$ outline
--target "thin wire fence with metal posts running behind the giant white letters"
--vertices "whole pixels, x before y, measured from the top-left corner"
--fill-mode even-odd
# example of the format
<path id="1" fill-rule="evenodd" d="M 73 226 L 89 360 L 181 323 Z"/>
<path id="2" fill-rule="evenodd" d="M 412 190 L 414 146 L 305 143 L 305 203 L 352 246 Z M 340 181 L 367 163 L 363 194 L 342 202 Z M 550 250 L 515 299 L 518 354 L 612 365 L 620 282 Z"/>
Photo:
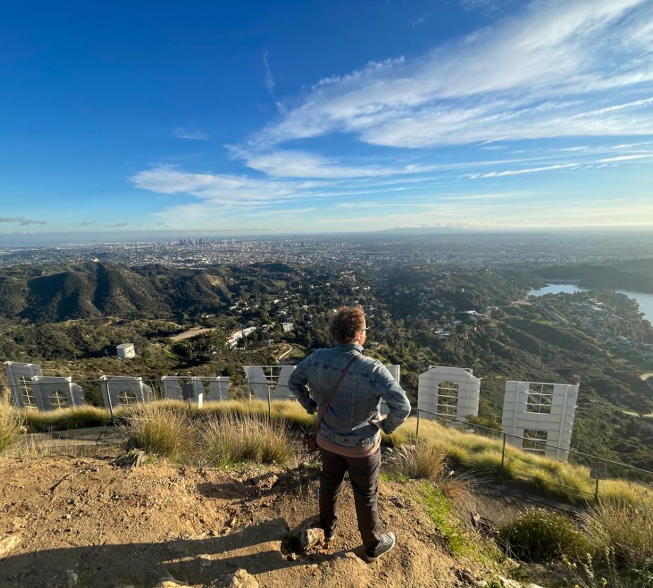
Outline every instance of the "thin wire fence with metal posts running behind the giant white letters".
<path id="1" fill-rule="evenodd" d="M 72 376 L 63 376 L 64 378 L 72 378 Z M 183 380 L 191 380 L 194 382 L 200 382 L 203 385 L 206 385 L 207 383 L 210 383 L 210 380 L 214 380 L 216 378 L 226 378 L 227 376 L 191 376 L 191 375 L 172 375 L 170 376 L 171 378 L 176 378 L 176 380 L 183 382 Z M 115 380 L 112 380 L 111 378 L 118 378 Z M 140 379 L 132 379 L 132 380 L 120 380 L 119 378 L 134 378 L 133 376 L 125 376 L 125 375 L 113 375 L 113 376 L 108 376 L 107 379 L 95 379 L 95 380 L 72 380 L 71 383 L 76 384 L 76 385 L 93 385 L 97 386 L 100 388 L 102 385 L 106 385 L 107 383 L 113 383 L 113 385 L 120 385 L 120 383 L 123 383 L 126 387 L 129 387 L 130 385 L 147 385 L 147 387 L 152 390 L 152 397 L 150 400 L 165 400 L 166 399 L 166 386 L 165 382 L 166 380 L 162 378 L 140 378 Z M 5 388 L 11 389 L 12 387 L 16 388 L 21 388 L 25 390 L 25 388 L 30 388 L 33 385 L 33 381 L 31 380 L 26 380 L 25 382 L 21 383 L 4 383 L 0 384 L 0 388 L 3 386 Z M 49 385 L 55 385 L 55 383 L 48 383 Z M 66 384 L 62 382 L 62 384 Z M 262 387 L 266 386 L 266 391 L 261 395 L 261 393 L 256 394 L 256 388 L 253 388 L 255 386 Z M 268 403 L 268 417 L 272 416 L 272 401 L 273 400 L 278 400 L 277 395 L 276 395 L 276 390 L 278 388 L 283 390 L 283 400 L 293 400 L 295 397 L 292 394 L 292 391 L 290 390 L 290 387 L 287 384 L 283 383 L 277 383 L 273 379 L 271 381 L 268 381 L 267 383 L 263 382 L 256 382 L 256 383 L 250 383 L 248 381 L 245 381 L 244 383 L 239 383 L 235 384 L 232 382 L 229 382 L 229 400 L 253 400 L 254 398 L 258 400 L 263 400 L 264 402 L 267 401 Z M 237 388 L 240 392 L 246 391 L 242 396 L 236 396 L 234 395 L 234 388 Z M 253 392 L 254 390 L 254 392 Z M 261 391 L 261 388 L 259 388 L 259 392 Z M 210 398 L 210 395 L 208 397 L 209 401 L 212 401 L 213 399 Z M 226 400 L 226 399 L 220 399 L 220 400 Z M 296 400 L 296 399 L 295 399 Z M 113 415 L 113 407 L 110 407 L 110 412 Z M 448 414 L 442 414 L 442 413 L 436 413 L 436 412 L 430 412 L 426 409 L 420 409 L 418 407 L 412 407 L 411 408 L 411 414 L 416 415 L 416 439 L 419 439 L 419 428 L 420 428 L 420 422 L 422 415 L 428 414 L 430 417 L 436 417 L 436 419 L 440 419 L 445 423 L 450 423 L 450 424 L 457 424 L 460 426 L 465 427 L 465 429 L 472 429 L 475 433 L 478 431 L 482 431 L 482 435 L 484 436 L 490 436 L 493 437 L 494 439 L 498 439 L 501 441 L 501 468 L 504 468 L 505 463 L 506 463 L 506 443 L 509 439 L 515 440 L 515 441 L 520 441 L 520 445 L 516 446 L 513 445 L 513 447 L 516 447 L 518 449 L 521 449 L 521 451 L 527 451 L 529 453 L 536 453 L 540 454 L 542 453 L 541 451 L 529 451 L 527 448 L 523 448 L 521 445 L 523 445 L 523 441 L 531 441 L 530 439 L 526 439 L 523 436 L 518 436 L 515 434 L 507 433 L 506 431 L 501 431 L 498 429 L 493 429 L 492 427 L 484 426 L 484 425 L 479 425 L 475 424 L 472 422 L 469 422 L 467 420 L 461 420 L 457 419 L 455 417 L 452 417 Z M 605 458 L 602 456 L 596 456 L 591 453 L 584 453 L 582 451 L 577 451 L 572 448 L 564 448 L 560 446 L 555 446 L 552 445 L 551 443 L 547 443 L 545 441 L 538 441 L 538 447 L 546 447 L 550 448 L 553 450 L 559 450 L 563 451 L 564 453 L 568 453 L 570 456 L 579 456 L 580 458 L 584 458 L 582 460 L 579 460 L 578 465 L 587 465 L 586 460 L 593 460 L 594 465 L 602 465 L 603 468 L 605 468 L 605 477 L 608 477 L 608 473 L 611 475 L 611 477 L 630 477 L 634 478 L 637 481 L 645 481 L 648 484 L 653 483 L 653 471 L 646 470 L 644 468 L 638 468 L 635 465 L 629 465 L 627 463 L 623 463 L 617 460 L 612 460 L 609 458 Z M 601 468 L 594 468 L 595 470 L 601 470 Z M 515 470 L 517 471 L 517 470 Z M 600 473 L 600 472 L 599 472 Z M 528 473 L 526 472 L 521 472 L 522 475 L 528 476 Z M 625 474 L 625 475 L 624 475 Z M 586 494 L 594 495 L 594 497 L 598 497 L 598 490 L 599 490 L 599 480 L 601 478 L 596 477 L 594 478 L 596 480 L 596 486 L 594 492 L 586 492 L 585 490 L 580 490 L 580 492 L 584 492 Z M 555 482 L 554 482 L 555 483 Z M 560 487 L 568 487 L 572 488 L 570 486 L 565 486 L 562 484 L 557 484 Z M 577 488 L 574 488 L 574 490 L 579 490 Z"/>

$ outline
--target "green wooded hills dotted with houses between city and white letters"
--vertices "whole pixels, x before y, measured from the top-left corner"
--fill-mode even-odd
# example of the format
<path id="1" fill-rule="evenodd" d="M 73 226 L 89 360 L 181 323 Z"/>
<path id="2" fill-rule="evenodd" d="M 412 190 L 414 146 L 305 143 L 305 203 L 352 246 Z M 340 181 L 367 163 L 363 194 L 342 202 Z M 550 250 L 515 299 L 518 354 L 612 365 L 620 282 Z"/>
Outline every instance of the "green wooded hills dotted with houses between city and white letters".
<path id="1" fill-rule="evenodd" d="M 653 469 L 653 378 L 643 377 L 652 371 L 651 325 L 633 300 L 610 290 L 529 302 L 540 280 L 405 264 L 382 272 L 285 264 L 11 268 L 0 272 L 0 361 L 34 361 L 76 380 L 192 372 L 241 384 L 242 366 L 275 363 L 280 345 L 293 346 L 290 363 L 329 346 L 329 311 L 358 302 L 371 327 L 366 353 L 402 366 L 412 402 L 419 374 L 433 365 L 474 369 L 483 379 L 479 414 L 489 424 L 500 419 L 507 379 L 580 382 L 572 446 Z M 293 329 L 284 332 L 288 320 Z M 226 335 L 245 326 L 256 327 L 246 351 L 227 350 Z M 196 327 L 205 332 L 169 339 Z M 136 344 L 128 363 L 115 357 L 123 341 Z M 98 386 L 86 391 L 100 402 Z"/>

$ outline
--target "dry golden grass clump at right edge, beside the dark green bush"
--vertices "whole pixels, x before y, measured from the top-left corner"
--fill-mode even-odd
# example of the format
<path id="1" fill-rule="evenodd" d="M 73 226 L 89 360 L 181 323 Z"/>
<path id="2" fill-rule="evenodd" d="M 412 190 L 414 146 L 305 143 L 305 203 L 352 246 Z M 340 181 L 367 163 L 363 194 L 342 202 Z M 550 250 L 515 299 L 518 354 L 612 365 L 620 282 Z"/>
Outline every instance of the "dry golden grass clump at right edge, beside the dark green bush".
<path id="1" fill-rule="evenodd" d="M 653 500 L 604 498 L 583 520 L 599 552 L 611 550 L 618 565 L 653 570 Z"/>

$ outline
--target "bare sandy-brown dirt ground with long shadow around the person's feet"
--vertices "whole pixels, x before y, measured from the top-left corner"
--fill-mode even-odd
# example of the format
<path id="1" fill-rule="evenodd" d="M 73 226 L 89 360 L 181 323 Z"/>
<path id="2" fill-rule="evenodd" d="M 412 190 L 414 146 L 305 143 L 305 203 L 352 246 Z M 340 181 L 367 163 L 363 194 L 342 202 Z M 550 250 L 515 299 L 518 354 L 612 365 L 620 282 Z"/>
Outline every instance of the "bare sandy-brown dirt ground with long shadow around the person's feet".
<path id="1" fill-rule="evenodd" d="M 225 473 L 160 463 L 122 468 L 110 458 L 6 458 L 0 544 L 20 543 L 0 559 L 0 587 L 151 588 L 166 574 L 219 587 L 241 568 L 271 588 L 459 585 L 455 571 L 470 564 L 448 553 L 405 489 L 382 482 L 382 521 L 398 543 L 368 565 L 358 557 L 347 486 L 334 545 L 297 559 L 283 553 L 288 528 L 315 514 L 314 468 Z"/>

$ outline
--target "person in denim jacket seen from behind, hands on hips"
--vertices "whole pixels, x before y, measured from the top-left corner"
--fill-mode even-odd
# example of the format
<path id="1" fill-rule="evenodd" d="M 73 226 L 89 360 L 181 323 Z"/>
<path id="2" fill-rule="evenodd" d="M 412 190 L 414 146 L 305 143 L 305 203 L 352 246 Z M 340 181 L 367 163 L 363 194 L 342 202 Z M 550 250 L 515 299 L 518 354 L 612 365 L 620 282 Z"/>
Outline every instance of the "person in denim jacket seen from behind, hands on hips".
<path id="1" fill-rule="evenodd" d="M 288 387 L 309 414 L 324 413 L 317 445 L 322 455 L 319 516 L 325 541 L 334 538 L 342 482 L 349 472 L 365 560 L 373 562 L 395 542 L 394 533 L 383 533 L 379 522 L 379 431 L 395 431 L 408 418 L 410 403 L 385 366 L 363 356 L 367 330 L 362 307 L 340 308 L 329 323 L 335 345 L 299 363 Z M 385 419 L 380 417 L 381 400 L 390 409 Z"/>

